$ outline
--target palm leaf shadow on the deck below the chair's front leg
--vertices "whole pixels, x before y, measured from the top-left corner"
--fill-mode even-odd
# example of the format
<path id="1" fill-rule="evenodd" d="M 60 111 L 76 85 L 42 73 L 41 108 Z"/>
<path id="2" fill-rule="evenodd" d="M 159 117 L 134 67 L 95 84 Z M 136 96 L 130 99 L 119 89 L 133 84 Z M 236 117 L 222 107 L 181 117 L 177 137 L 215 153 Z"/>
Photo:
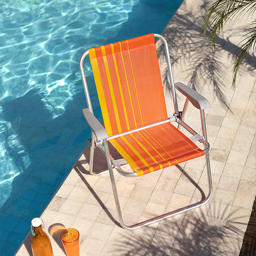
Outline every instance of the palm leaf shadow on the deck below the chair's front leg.
<path id="1" fill-rule="evenodd" d="M 240 251 L 241 236 L 244 232 L 238 227 L 244 225 L 240 218 L 235 217 L 236 211 L 227 214 L 230 208 L 218 207 L 214 204 L 211 207 L 211 216 L 207 218 L 202 210 L 197 212 L 187 212 L 182 224 L 171 220 L 161 221 L 157 229 L 148 228 L 144 232 L 137 233 L 135 236 L 127 236 L 122 240 L 128 240 L 126 244 L 113 246 L 113 253 L 122 256 L 168 256 L 168 255 L 196 255 L 214 256 L 227 255 L 227 248 L 219 247 L 220 241 L 230 242 L 228 239 L 233 237 L 234 250 Z M 152 232 L 155 232 L 152 236 Z M 113 254 L 114 255 L 114 254 Z"/>

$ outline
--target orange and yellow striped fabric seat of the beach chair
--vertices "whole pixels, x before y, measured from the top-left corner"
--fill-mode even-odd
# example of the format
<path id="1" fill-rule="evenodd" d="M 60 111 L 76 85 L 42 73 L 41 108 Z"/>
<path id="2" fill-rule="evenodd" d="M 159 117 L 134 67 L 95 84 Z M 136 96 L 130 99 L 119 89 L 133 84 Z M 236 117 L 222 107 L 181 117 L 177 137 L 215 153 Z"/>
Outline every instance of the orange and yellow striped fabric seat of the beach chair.
<path id="1" fill-rule="evenodd" d="M 171 123 L 109 140 L 137 176 L 204 155 L 204 151 Z"/>

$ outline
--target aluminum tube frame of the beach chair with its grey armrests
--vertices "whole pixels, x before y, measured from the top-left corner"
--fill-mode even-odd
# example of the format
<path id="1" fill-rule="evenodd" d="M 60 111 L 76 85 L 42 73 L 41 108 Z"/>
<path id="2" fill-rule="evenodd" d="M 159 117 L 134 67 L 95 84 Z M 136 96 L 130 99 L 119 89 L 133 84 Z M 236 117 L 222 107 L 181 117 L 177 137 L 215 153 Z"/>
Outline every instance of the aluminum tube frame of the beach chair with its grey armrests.
<path id="1" fill-rule="evenodd" d="M 209 143 L 207 142 L 206 122 L 205 122 L 205 115 L 204 115 L 204 109 L 210 107 L 209 102 L 208 102 L 207 99 L 205 99 L 203 96 L 201 96 L 199 93 L 197 93 L 192 88 L 190 88 L 190 87 L 188 87 L 185 84 L 182 84 L 180 82 L 177 82 L 177 83 L 174 82 L 172 67 L 171 67 L 171 60 L 170 60 L 170 55 L 169 55 L 168 43 L 162 35 L 154 34 L 154 36 L 156 38 L 160 38 L 160 40 L 162 40 L 163 44 L 164 44 L 164 48 L 165 48 L 165 52 L 166 52 L 166 61 L 167 61 L 167 66 L 168 66 L 168 73 L 169 73 L 169 80 L 170 80 L 170 85 L 171 85 L 171 90 L 172 90 L 172 99 L 173 99 L 174 109 L 175 109 L 174 115 L 172 117 L 170 117 L 169 119 L 167 119 L 167 120 L 164 120 L 164 121 L 152 124 L 152 125 L 143 126 L 141 128 L 137 128 L 137 129 L 134 129 L 134 130 L 130 130 L 130 131 L 127 131 L 127 132 L 122 133 L 122 134 L 118 134 L 118 135 L 108 137 L 108 134 L 107 134 L 105 128 L 102 126 L 102 124 L 93 115 L 93 108 L 92 108 L 92 104 L 91 104 L 91 101 L 90 101 L 89 90 L 88 90 L 88 87 L 87 87 L 87 82 L 86 82 L 86 78 L 85 78 L 85 74 L 84 74 L 84 68 L 83 68 L 84 58 L 89 54 L 88 50 L 86 52 L 84 52 L 84 54 L 81 56 L 80 62 L 79 62 L 81 78 L 82 78 L 82 82 L 83 82 L 83 86 L 84 86 L 84 92 L 85 92 L 87 106 L 88 106 L 88 108 L 82 110 L 82 113 L 83 113 L 84 118 L 86 119 L 88 125 L 92 129 L 92 138 L 91 138 L 91 141 L 90 141 L 89 172 L 90 172 L 91 175 L 101 175 L 103 173 L 109 172 L 110 179 L 111 179 L 111 184 L 112 184 L 112 189 L 113 189 L 113 195 L 114 195 L 115 203 L 116 203 L 117 214 L 118 214 L 118 218 L 119 218 L 119 223 L 121 224 L 121 226 L 123 228 L 125 228 L 127 230 L 135 230 L 137 228 L 144 227 L 144 226 L 147 226 L 149 224 L 152 224 L 156 221 L 161 221 L 161 220 L 169 218 L 171 216 L 174 216 L 174 215 L 192 210 L 196 207 L 203 206 L 204 204 L 206 204 L 209 201 L 209 199 L 211 198 L 211 195 L 212 195 L 212 178 L 211 178 L 211 170 L 210 170 L 210 162 L 209 162 Z M 183 95 L 185 95 L 187 97 L 182 112 L 179 112 L 179 110 L 178 110 L 175 89 L 179 90 Z M 187 106 L 188 106 L 189 102 L 191 102 L 192 105 L 195 106 L 195 108 L 198 108 L 200 110 L 201 127 L 202 127 L 203 137 L 201 137 L 196 131 L 194 131 L 191 127 L 189 127 L 189 125 L 187 125 L 183 121 L 183 117 L 184 117 L 184 114 L 186 112 L 186 109 L 187 109 Z M 116 183 L 115 183 L 115 179 L 114 179 L 114 175 L 113 175 L 113 169 L 116 169 L 117 172 L 119 172 L 123 176 L 137 177 L 137 175 L 136 175 L 135 172 L 125 172 L 122 169 L 121 166 L 123 164 L 127 164 L 125 160 L 124 161 L 114 160 L 113 157 L 111 157 L 110 152 L 109 152 L 109 148 L 108 148 L 108 140 L 113 139 L 113 137 L 115 137 L 115 136 L 125 135 L 125 134 L 128 134 L 128 133 L 134 132 L 134 131 L 139 131 L 140 129 L 148 128 L 150 126 L 159 125 L 160 123 L 164 123 L 164 122 L 177 122 L 178 123 L 178 129 L 180 128 L 180 126 L 182 126 L 187 131 L 189 131 L 190 134 L 193 135 L 192 139 L 195 139 L 195 141 L 199 140 L 201 143 L 204 144 L 204 154 L 205 154 L 206 167 L 207 167 L 207 180 L 208 180 L 208 186 L 209 186 L 209 193 L 203 201 L 199 201 L 198 203 L 188 205 L 186 207 L 177 209 L 177 210 L 172 211 L 172 212 L 168 212 L 166 214 L 157 216 L 155 218 L 151 218 L 149 220 L 143 221 L 143 222 L 138 223 L 138 224 L 134 224 L 132 226 L 125 225 L 124 221 L 123 221 L 123 218 L 122 218 L 122 212 L 121 212 L 119 199 L 118 199 L 118 195 L 117 195 Z M 108 164 L 108 169 L 107 170 L 102 170 L 100 172 L 93 172 L 93 155 L 94 155 L 95 145 L 97 147 L 99 147 L 99 149 L 102 151 L 103 154 L 105 154 L 105 157 L 107 159 L 107 164 Z"/>

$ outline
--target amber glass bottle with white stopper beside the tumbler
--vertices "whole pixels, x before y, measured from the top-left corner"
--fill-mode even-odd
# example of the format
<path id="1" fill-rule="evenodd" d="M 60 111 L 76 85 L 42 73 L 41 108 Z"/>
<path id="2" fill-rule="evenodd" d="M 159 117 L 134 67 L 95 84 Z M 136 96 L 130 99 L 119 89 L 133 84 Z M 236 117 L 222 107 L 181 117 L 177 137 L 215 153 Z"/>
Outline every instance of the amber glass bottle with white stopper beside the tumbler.
<path id="1" fill-rule="evenodd" d="M 43 230 L 44 222 L 41 218 L 33 218 L 31 221 L 31 248 L 33 256 L 53 256 L 52 244 Z"/>

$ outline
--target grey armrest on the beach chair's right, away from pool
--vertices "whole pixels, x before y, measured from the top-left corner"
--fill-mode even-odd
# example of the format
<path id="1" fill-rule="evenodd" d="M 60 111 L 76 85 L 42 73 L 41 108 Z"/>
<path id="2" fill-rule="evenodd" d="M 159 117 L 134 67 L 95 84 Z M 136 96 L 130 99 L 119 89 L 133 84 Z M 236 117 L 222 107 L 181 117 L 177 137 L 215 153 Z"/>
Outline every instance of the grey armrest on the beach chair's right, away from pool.
<path id="1" fill-rule="evenodd" d="M 180 82 L 175 83 L 175 88 L 185 95 L 189 101 L 198 109 L 210 108 L 211 105 L 209 101 L 204 98 L 200 93 L 196 92 L 192 88 Z"/>

